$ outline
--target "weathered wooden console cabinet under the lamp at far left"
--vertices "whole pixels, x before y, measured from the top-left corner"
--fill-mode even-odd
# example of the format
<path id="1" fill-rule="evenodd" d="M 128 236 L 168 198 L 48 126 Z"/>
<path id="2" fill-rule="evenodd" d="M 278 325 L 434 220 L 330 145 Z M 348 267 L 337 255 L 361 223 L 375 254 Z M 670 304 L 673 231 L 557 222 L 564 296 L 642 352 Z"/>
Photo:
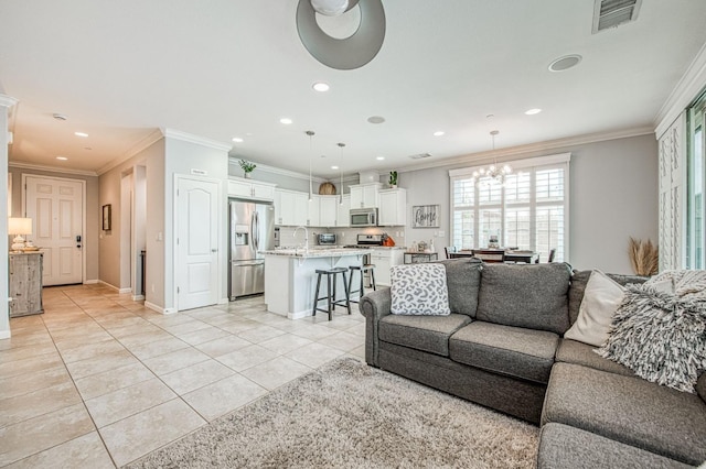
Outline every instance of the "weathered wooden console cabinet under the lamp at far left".
<path id="1" fill-rule="evenodd" d="M 44 313 L 42 306 L 41 252 L 11 252 L 10 270 L 10 317 Z"/>

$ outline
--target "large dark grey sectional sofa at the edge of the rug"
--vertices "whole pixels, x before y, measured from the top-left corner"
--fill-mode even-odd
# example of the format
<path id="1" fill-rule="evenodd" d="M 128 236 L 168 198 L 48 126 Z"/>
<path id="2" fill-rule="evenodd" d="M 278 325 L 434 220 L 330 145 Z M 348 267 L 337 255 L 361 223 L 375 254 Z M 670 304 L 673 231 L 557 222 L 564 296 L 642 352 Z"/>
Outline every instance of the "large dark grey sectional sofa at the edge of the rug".
<path id="1" fill-rule="evenodd" d="M 564 263 L 442 261 L 448 316 L 391 314 L 365 295 L 365 359 L 542 426 L 541 468 L 680 468 L 706 461 L 706 373 L 698 393 L 650 383 L 595 347 L 564 339 L 590 271 Z M 621 284 L 644 277 L 610 275 Z"/>

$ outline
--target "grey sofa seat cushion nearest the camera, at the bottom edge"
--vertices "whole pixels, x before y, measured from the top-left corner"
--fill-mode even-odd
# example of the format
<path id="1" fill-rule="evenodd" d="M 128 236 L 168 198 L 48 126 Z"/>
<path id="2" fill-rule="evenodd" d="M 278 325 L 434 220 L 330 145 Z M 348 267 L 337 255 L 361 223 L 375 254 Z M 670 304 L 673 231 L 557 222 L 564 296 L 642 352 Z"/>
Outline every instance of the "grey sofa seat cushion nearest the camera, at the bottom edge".
<path id="1" fill-rule="evenodd" d="M 539 434 L 538 469 L 686 469 L 691 467 L 563 424 L 546 424 Z"/>

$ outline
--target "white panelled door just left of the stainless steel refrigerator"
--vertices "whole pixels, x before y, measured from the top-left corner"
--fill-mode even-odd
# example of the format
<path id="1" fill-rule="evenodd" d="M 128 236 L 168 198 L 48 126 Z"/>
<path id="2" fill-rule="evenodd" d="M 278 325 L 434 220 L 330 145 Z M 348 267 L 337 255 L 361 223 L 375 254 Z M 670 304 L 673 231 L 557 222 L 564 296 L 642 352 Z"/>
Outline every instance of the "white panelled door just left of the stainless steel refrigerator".
<path id="1" fill-rule="evenodd" d="M 178 308 L 218 302 L 218 184 L 179 178 L 176 192 Z"/>

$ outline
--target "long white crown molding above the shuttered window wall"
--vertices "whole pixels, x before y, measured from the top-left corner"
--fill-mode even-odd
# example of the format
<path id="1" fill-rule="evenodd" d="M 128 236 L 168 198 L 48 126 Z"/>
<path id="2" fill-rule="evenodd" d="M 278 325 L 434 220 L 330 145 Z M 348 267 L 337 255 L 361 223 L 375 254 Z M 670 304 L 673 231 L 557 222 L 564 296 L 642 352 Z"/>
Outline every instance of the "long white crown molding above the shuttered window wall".
<path id="1" fill-rule="evenodd" d="M 564 150 L 567 146 L 585 145 L 588 143 L 606 142 L 609 140 L 628 139 L 631 137 L 641 137 L 654 133 L 651 126 L 634 129 L 618 130 L 614 132 L 588 133 L 585 135 L 569 137 L 566 139 L 547 140 L 546 142 L 528 143 L 526 145 L 512 146 L 509 149 L 500 149 L 495 151 L 485 151 L 479 153 L 469 153 L 461 156 L 450 159 L 436 160 L 415 165 L 405 166 L 404 170 L 397 170 L 400 173 L 407 173 L 418 170 L 430 170 L 441 166 L 453 166 L 457 164 L 483 165 L 494 160 L 506 161 L 522 157 L 534 157 L 537 153 L 554 152 Z M 431 159 L 434 160 L 434 159 Z"/>

